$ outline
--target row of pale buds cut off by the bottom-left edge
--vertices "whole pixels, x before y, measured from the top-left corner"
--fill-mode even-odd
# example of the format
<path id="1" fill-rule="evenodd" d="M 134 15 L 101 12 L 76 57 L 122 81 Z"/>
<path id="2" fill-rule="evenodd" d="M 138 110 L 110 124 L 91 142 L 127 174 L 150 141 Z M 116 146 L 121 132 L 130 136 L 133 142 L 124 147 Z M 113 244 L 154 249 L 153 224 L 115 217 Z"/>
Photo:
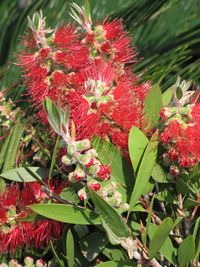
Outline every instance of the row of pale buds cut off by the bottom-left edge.
<path id="1" fill-rule="evenodd" d="M 49 265 L 48 265 L 49 266 Z M 38 259 L 34 262 L 34 259 L 27 256 L 24 259 L 24 264 L 20 264 L 18 260 L 12 259 L 9 261 L 8 264 L 2 263 L 0 264 L 0 267 L 47 267 L 47 264 L 43 259 Z"/>

